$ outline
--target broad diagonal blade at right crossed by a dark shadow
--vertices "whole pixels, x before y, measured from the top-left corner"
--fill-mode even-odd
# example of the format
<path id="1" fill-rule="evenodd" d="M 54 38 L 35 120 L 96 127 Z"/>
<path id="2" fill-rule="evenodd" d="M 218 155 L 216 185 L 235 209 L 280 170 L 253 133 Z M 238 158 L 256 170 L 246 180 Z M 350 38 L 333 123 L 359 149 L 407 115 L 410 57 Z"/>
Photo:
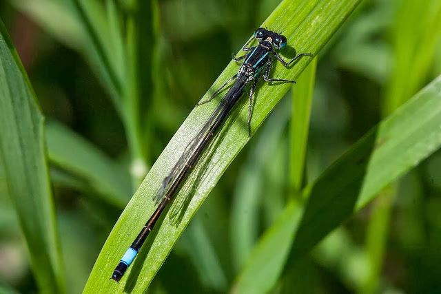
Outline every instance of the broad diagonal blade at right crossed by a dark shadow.
<path id="1" fill-rule="evenodd" d="M 385 185 L 438 149 L 441 146 L 440 125 L 441 76 L 384 119 L 314 184 L 305 188 L 309 199 L 300 222 L 294 222 L 296 236 L 285 272 L 353 211 L 373 200 Z M 291 206 L 285 213 L 291 214 L 291 220 L 299 219 Z M 285 213 L 280 219 L 289 218 Z M 278 251 L 275 245 L 283 239 L 274 238 L 280 237 L 280 231 L 290 231 L 292 226 L 293 222 L 278 222 L 265 233 L 238 277 L 235 291 L 265 292 L 274 286 L 278 279 L 274 273 L 280 273 L 285 264 L 285 260 L 274 254 Z M 272 260 L 282 263 L 272 263 Z M 255 284 L 256 281 L 260 283 Z"/>

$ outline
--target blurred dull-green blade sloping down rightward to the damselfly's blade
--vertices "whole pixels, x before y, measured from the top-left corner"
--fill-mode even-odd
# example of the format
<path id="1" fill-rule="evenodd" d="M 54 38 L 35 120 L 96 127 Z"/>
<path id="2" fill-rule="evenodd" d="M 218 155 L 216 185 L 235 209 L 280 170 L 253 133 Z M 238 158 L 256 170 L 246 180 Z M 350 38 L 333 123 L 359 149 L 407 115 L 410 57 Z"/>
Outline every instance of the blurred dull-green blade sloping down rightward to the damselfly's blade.
<path id="1" fill-rule="evenodd" d="M 85 181 L 106 202 L 116 207 L 127 204 L 130 176 L 102 151 L 55 121 L 46 123 L 46 141 L 54 165 Z"/>

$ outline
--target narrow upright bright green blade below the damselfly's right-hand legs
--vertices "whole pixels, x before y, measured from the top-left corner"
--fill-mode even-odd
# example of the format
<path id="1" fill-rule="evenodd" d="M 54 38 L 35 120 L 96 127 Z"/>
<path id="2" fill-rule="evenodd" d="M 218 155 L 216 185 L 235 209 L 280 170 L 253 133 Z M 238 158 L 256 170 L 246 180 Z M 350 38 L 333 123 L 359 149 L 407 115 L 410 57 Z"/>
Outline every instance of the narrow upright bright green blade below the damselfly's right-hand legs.
<path id="1" fill-rule="evenodd" d="M 306 148 L 308 143 L 309 116 L 311 114 L 312 92 L 316 81 L 317 57 L 308 65 L 293 87 L 293 104 L 290 127 L 289 187 L 291 193 L 303 187 Z"/>

